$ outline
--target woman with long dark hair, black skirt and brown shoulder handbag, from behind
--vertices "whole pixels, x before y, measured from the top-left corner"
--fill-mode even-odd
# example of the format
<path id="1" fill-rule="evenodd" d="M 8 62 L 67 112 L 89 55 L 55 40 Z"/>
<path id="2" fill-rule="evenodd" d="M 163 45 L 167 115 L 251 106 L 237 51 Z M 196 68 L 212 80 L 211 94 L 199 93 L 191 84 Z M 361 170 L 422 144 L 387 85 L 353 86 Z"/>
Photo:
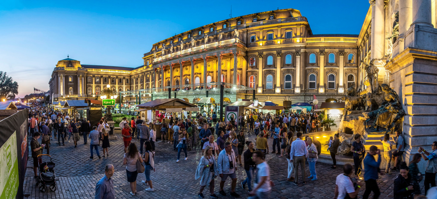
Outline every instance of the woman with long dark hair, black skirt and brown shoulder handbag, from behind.
<path id="1" fill-rule="evenodd" d="M 134 143 L 131 143 L 128 146 L 128 152 L 125 153 L 123 157 L 123 165 L 126 165 L 126 175 L 128 177 L 128 182 L 131 185 L 131 195 L 135 196 L 136 193 L 136 178 L 138 175 L 137 172 L 137 160 L 139 162 L 143 162 L 141 158 L 141 154 L 138 152 L 138 149 Z"/>

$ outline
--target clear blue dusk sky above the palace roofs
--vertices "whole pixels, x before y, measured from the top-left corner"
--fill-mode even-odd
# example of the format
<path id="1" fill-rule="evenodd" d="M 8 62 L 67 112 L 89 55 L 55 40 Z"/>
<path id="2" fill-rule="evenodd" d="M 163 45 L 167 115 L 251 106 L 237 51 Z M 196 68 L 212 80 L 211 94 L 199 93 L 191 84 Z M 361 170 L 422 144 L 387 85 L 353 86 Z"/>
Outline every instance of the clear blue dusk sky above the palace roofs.
<path id="1" fill-rule="evenodd" d="M 0 71 L 18 96 L 49 90 L 57 61 L 138 67 L 152 44 L 230 18 L 232 1 L 0 0 Z M 368 0 L 243 1 L 232 17 L 294 8 L 313 34 L 359 34 Z"/>

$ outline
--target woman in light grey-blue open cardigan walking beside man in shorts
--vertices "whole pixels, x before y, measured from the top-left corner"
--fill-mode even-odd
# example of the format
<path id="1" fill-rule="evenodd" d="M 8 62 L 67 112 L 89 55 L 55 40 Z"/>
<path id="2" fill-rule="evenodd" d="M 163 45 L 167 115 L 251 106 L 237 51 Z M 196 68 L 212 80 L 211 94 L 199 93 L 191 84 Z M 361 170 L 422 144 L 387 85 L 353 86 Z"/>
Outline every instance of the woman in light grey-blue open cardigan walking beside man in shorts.
<path id="1" fill-rule="evenodd" d="M 212 198 L 218 198 L 214 194 L 214 179 L 218 176 L 217 162 L 215 161 L 214 155 L 212 155 L 211 146 L 206 146 L 203 156 L 199 160 L 199 165 L 196 169 L 196 175 L 194 179 L 200 179 L 200 190 L 198 196 L 204 198 L 203 190 L 209 184 L 209 192 Z"/>

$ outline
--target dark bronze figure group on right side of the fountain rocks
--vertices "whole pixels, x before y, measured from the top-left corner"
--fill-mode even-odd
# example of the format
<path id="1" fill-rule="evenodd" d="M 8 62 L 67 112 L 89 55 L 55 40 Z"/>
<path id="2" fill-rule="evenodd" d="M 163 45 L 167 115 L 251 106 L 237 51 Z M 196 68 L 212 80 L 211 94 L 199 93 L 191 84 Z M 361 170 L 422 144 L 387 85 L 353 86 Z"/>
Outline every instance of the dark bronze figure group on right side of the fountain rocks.
<path id="1" fill-rule="evenodd" d="M 387 84 L 382 84 L 381 88 L 385 93 L 384 101 L 377 110 L 363 113 L 364 117 L 368 118 L 364 121 L 364 125 L 366 128 L 376 128 L 376 131 L 379 131 L 379 127 L 382 127 L 386 133 L 393 133 L 399 129 L 402 117 L 405 115 L 405 110 L 399 102 L 399 95 L 396 94 L 396 91 L 388 87 Z M 368 121 L 373 118 L 375 118 L 373 125 L 368 126 Z"/>

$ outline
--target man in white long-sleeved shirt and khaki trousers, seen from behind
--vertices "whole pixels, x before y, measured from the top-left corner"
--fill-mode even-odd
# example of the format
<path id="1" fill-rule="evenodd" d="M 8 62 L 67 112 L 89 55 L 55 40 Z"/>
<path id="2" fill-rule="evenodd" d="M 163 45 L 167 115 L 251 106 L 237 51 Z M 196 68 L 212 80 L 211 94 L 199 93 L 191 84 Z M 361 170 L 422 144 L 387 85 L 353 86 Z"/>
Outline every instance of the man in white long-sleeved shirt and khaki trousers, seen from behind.
<path id="1" fill-rule="evenodd" d="M 299 164 L 301 165 L 302 172 L 302 184 L 305 185 L 305 159 L 308 155 L 308 149 L 306 148 L 305 141 L 302 140 L 302 133 L 296 134 L 297 139 L 291 142 L 290 148 L 290 162 L 293 162 L 295 171 L 295 182 L 293 184 L 298 185 L 298 171 Z"/>

